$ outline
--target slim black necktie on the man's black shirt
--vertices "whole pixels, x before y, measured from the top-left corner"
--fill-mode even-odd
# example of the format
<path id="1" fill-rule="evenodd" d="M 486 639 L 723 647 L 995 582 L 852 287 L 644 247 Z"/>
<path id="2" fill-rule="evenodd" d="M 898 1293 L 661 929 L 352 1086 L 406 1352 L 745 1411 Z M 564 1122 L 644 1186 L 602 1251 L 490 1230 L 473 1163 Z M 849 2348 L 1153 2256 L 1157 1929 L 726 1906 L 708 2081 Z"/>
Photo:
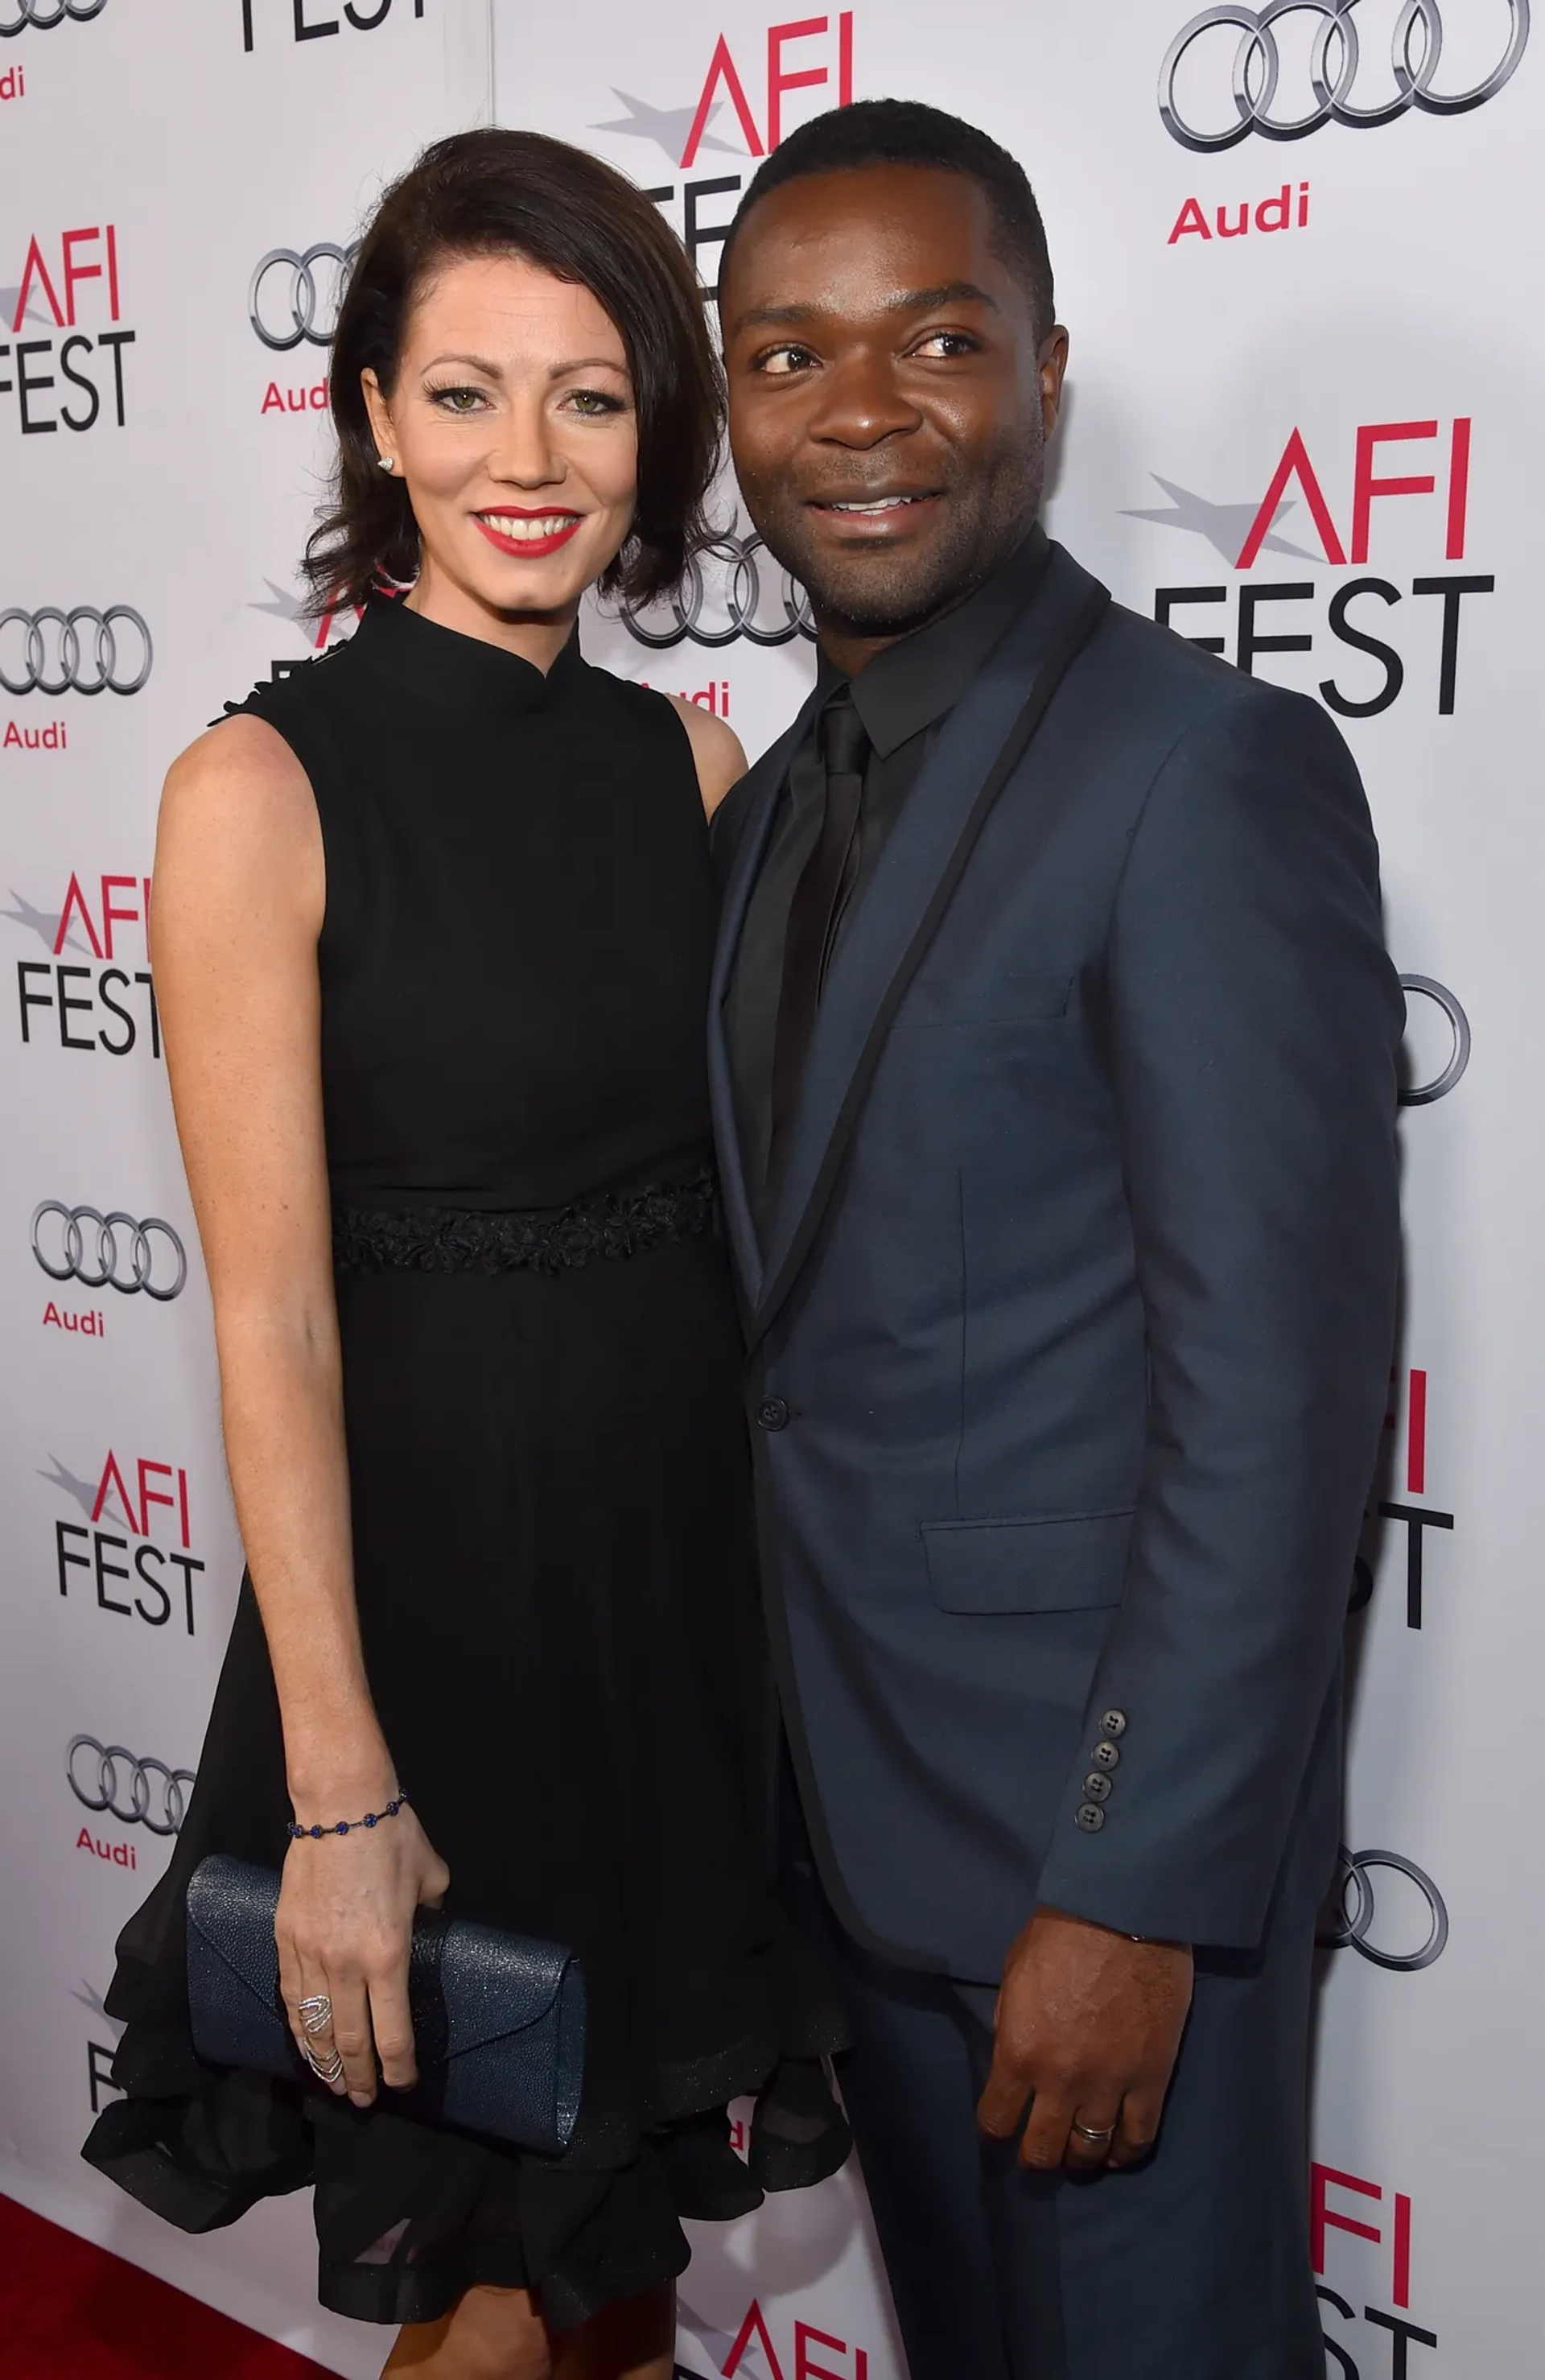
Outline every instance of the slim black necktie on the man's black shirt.
<path id="1" fill-rule="evenodd" d="M 788 1157 L 788 1128 L 821 1004 L 821 983 L 859 862 L 859 807 L 864 800 L 869 735 L 847 688 L 833 695 L 821 712 L 819 740 L 826 764 L 826 809 L 821 812 L 817 845 L 805 862 L 795 897 L 788 904 L 771 1076 L 769 1192 L 776 1188 Z"/>

